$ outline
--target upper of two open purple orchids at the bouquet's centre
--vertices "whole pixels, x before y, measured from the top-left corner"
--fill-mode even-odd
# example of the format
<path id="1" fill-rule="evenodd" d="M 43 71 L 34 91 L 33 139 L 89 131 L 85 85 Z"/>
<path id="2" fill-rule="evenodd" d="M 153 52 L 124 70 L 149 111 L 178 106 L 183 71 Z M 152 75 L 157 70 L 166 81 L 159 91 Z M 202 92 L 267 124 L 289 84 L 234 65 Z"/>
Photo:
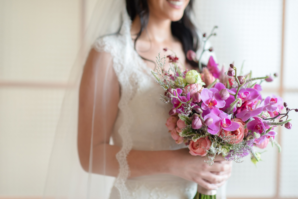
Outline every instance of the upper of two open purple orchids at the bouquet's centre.
<path id="1" fill-rule="evenodd" d="M 201 99 L 203 101 L 201 107 L 203 110 L 208 108 L 223 108 L 226 105 L 224 99 L 219 95 L 219 90 L 216 88 L 203 88 L 201 91 Z"/>

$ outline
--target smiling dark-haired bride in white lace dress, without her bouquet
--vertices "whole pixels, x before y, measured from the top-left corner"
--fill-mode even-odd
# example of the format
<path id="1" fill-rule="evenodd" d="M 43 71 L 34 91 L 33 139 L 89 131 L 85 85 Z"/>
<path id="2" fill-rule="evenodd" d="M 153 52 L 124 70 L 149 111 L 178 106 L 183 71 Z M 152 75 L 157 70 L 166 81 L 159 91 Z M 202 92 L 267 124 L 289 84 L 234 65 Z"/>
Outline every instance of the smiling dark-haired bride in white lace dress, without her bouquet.
<path id="1" fill-rule="evenodd" d="M 209 166 L 171 138 L 165 125 L 170 107 L 159 100 L 164 90 L 151 74 L 159 52 L 173 54 L 163 49 L 173 50 L 181 67 L 198 69 L 186 59 L 188 50 L 200 47 L 192 6 L 193 0 L 126 0 L 119 31 L 98 38 L 89 52 L 77 151 L 89 175 L 116 177 L 111 199 L 191 199 L 197 184 L 218 189 L 231 175 L 232 162 L 218 156 Z"/>

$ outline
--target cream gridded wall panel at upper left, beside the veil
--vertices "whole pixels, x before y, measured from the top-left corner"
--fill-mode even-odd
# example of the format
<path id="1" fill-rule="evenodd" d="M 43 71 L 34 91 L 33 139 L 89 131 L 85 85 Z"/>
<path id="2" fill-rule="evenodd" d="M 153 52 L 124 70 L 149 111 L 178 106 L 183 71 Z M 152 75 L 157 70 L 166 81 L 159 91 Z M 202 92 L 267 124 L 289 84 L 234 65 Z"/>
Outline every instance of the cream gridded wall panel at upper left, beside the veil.
<path id="1" fill-rule="evenodd" d="M 0 0 L 0 80 L 65 82 L 80 42 L 79 2 Z"/>

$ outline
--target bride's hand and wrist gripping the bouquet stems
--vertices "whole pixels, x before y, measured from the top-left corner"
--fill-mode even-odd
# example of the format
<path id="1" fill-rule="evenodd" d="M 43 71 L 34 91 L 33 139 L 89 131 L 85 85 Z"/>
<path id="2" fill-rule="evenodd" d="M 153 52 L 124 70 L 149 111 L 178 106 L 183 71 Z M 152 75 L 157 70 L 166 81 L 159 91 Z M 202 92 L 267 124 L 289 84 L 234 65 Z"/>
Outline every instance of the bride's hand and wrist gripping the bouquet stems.
<path id="1" fill-rule="evenodd" d="M 175 153 L 174 166 L 171 174 L 198 183 L 205 189 L 213 190 L 222 186 L 231 176 L 232 161 L 226 161 L 221 155 L 209 166 L 207 157 L 192 156 L 189 149 L 173 151 Z"/>

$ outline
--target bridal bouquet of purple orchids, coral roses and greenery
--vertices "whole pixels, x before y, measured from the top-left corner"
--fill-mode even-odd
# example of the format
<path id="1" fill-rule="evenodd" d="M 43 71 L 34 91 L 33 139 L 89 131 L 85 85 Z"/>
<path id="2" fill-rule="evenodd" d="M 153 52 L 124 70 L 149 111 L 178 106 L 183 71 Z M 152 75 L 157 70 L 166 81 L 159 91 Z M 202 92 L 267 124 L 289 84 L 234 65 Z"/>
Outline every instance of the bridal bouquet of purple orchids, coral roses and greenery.
<path id="1" fill-rule="evenodd" d="M 219 154 L 238 163 L 250 154 L 256 163 L 260 153 L 253 146 L 263 149 L 269 142 L 281 150 L 274 140 L 277 134 L 274 129 L 278 125 L 291 129 L 288 114 L 298 109 L 288 108 L 281 97 L 261 96 L 261 83 L 270 82 L 273 77 L 253 77 L 252 72 L 238 76 L 234 64 L 230 64 L 228 71 L 224 67 L 220 70 L 212 56 L 207 67 L 202 68 L 193 51 L 187 53 L 187 59 L 198 62 L 200 72 L 181 70 L 178 57 L 172 53 L 157 57 L 157 72 L 153 74 L 166 91 L 161 95 L 162 101 L 172 105 L 166 126 L 177 144 L 188 145 L 193 156 L 206 156 L 209 165 Z M 167 58 L 172 64 L 166 71 Z M 283 108 L 285 113 L 281 112 Z"/>

